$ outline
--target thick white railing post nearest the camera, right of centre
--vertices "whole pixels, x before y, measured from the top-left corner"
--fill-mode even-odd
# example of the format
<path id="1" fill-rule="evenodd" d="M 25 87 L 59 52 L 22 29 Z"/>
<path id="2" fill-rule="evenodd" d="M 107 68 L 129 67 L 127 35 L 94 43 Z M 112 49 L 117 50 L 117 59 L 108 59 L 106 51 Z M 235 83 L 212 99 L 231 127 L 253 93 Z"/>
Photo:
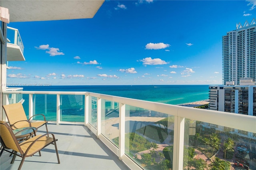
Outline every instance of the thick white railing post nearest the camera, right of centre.
<path id="1" fill-rule="evenodd" d="M 174 116 L 173 170 L 183 170 L 185 118 Z"/>

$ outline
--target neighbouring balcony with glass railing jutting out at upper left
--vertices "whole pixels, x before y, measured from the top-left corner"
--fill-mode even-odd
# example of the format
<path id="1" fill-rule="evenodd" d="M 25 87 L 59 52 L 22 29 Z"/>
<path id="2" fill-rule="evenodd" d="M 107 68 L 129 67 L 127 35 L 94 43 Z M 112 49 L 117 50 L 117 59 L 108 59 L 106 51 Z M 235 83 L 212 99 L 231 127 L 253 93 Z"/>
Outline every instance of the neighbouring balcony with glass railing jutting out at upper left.
<path id="1" fill-rule="evenodd" d="M 19 30 L 7 27 L 7 61 L 25 61 Z"/>

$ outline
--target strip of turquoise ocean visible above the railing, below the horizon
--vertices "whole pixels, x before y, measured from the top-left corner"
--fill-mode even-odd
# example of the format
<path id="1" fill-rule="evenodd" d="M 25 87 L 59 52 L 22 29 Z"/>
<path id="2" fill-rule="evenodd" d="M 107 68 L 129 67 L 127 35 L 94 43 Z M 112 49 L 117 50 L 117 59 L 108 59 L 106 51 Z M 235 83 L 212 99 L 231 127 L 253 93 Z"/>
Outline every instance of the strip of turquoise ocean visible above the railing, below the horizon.
<path id="1" fill-rule="evenodd" d="M 209 85 L 23 86 L 23 91 L 88 91 L 172 105 L 208 99 Z"/>

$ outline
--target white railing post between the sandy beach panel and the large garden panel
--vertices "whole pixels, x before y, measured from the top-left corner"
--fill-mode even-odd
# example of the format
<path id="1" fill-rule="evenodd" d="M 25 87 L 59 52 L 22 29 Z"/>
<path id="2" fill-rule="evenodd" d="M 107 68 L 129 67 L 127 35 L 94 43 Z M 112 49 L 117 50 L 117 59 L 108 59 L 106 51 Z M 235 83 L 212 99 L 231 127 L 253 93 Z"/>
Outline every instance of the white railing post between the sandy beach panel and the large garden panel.
<path id="1" fill-rule="evenodd" d="M 118 157 L 121 160 L 125 151 L 125 104 L 119 104 L 119 153 Z"/>

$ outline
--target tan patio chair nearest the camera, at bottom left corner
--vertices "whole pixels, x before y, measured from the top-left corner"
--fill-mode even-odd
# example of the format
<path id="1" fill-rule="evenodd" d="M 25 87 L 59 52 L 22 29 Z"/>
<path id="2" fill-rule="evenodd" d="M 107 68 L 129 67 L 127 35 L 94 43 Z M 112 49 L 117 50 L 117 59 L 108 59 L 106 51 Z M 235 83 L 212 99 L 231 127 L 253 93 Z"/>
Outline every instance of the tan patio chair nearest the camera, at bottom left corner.
<path id="1" fill-rule="evenodd" d="M 52 137 L 48 137 L 49 134 L 52 135 Z M 54 144 L 55 151 L 57 154 L 58 163 L 60 164 L 60 158 L 58 155 L 56 139 L 55 139 L 54 134 L 52 134 L 52 133 L 36 135 L 33 138 L 30 138 L 28 140 L 24 140 L 21 143 L 18 143 L 18 140 L 14 136 L 14 133 L 13 133 L 10 125 L 8 125 L 8 123 L 6 123 L 4 121 L 0 121 L 0 138 L 1 138 L 1 143 L 3 146 L 0 156 L 2 156 L 2 153 L 4 152 L 4 150 L 14 154 L 11 164 L 14 162 L 14 159 L 16 156 L 22 157 L 22 160 L 20 162 L 20 166 L 19 166 L 18 170 L 21 169 L 22 164 L 26 157 L 33 156 L 37 152 L 40 153 L 40 150 L 42 150 L 43 148 L 45 148 L 46 146 L 48 146 L 50 144 Z M 9 151 L 8 149 L 11 149 L 12 152 Z M 17 154 L 17 152 L 19 152 L 20 154 Z M 41 154 L 39 154 L 39 155 L 41 156 Z M 34 168 L 36 168 L 36 167 L 34 167 Z"/>

